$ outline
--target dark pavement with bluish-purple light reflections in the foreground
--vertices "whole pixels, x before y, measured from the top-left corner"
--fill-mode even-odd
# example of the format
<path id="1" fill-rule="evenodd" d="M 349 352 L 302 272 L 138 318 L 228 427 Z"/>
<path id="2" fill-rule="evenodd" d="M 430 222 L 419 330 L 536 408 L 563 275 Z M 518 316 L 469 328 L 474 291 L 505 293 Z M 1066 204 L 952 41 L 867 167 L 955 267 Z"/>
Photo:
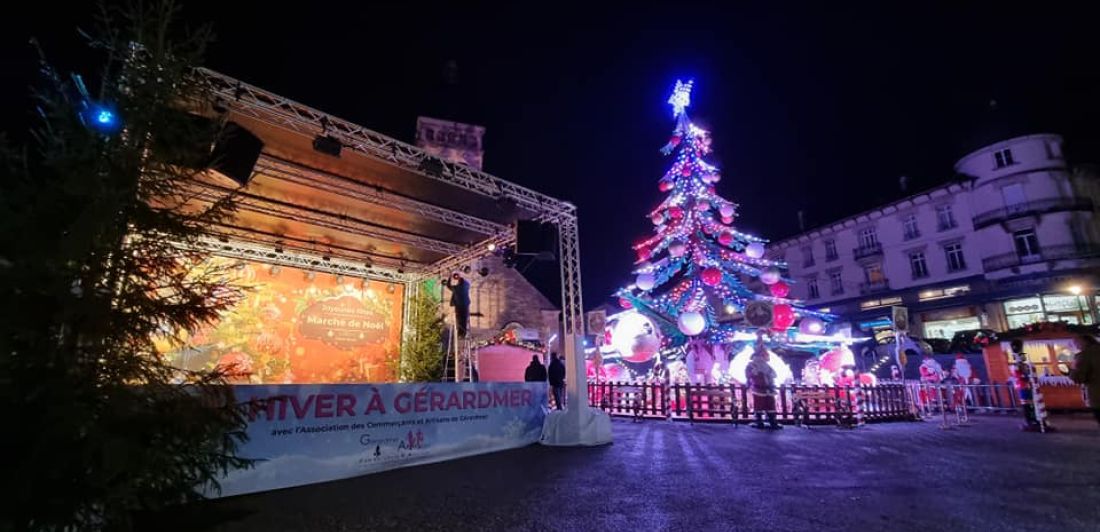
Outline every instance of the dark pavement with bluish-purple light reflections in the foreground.
<path id="1" fill-rule="evenodd" d="M 530 446 L 164 514 L 158 530 L 1100 531 L 1100 429 L 1008 417 L 757 431 L 615 421 Z M 152 523 L 146 523 L 152 524 Z"/>

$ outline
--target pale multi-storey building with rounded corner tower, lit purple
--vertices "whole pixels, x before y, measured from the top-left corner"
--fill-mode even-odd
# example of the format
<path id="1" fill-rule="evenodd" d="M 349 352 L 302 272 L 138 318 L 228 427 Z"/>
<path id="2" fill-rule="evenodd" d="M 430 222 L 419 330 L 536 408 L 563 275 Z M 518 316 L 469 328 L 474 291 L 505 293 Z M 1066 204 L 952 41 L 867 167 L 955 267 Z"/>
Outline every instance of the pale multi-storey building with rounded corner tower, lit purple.
<path id="1" fill-rule="evenodd" d="M 1055 134 L 1018 136 L 955 165 L 964 179 L 770 247 L 792 295 L 862 330 L 910 309 L 910 330 L 952 339 L 1036 321 L 1096 323 L 1100 185 Z M 886 321 L 884 321 L 886 320 Z"/>

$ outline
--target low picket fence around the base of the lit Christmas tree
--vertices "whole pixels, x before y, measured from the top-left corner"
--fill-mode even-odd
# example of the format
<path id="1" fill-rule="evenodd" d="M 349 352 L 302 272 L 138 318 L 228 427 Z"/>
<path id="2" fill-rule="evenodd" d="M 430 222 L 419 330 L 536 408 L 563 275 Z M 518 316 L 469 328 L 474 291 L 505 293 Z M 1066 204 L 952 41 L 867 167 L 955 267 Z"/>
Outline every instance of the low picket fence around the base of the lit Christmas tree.
<path id="1" fill-rule="evenodd" d="M 744 385 L 590 383 L 588 403 L 610 415 L 690 422 L 754 421 L 752 394 Z M 778 387 L 777 419 L 787 423 L 850 423 L 914 419 L 905 385 Z"/>

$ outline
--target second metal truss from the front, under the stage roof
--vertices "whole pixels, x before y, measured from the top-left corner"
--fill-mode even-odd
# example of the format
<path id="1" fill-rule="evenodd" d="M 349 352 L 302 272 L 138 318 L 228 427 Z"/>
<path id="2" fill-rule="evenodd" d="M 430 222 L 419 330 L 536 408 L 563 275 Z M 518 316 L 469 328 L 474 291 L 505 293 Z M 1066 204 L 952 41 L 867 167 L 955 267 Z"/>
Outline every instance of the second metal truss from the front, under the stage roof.
<path id="1" fill-rule="evenodd" d="M 409 212 L 481 234 L 492 235 L 508 229 L 507 225 L 501 223 L 483 220 L 464 212 L 453 211 L 402 195 L 387 192 L 382 187 L 356 182 L 343 176 L 308 168 L 270 155 L 262 155 L 260 157 L 260 162 L 256 163 L 256 171 L 275 179 L 326 190 L 402 212 Z"/>

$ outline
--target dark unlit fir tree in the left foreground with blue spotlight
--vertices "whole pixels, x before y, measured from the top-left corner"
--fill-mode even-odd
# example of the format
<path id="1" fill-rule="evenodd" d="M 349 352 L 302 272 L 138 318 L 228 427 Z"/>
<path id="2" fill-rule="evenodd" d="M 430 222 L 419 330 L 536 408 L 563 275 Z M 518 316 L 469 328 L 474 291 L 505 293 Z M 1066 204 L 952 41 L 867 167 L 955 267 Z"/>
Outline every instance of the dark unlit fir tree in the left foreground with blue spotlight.
<path id="1" fill-rule="evenodd" d="M 185 112 L 210 104 L 209 32 L 178 33 L 172 2 L 101 13 L 90 90 L 44 59 L 34 142 L 2 152 L 3 530 L 128 528 L 248 465 L 221 376 L 154 348 L 239 299 L 193 246 L 234 207 L 193 199 L 219 130 Z"/>

